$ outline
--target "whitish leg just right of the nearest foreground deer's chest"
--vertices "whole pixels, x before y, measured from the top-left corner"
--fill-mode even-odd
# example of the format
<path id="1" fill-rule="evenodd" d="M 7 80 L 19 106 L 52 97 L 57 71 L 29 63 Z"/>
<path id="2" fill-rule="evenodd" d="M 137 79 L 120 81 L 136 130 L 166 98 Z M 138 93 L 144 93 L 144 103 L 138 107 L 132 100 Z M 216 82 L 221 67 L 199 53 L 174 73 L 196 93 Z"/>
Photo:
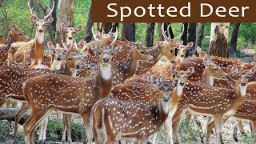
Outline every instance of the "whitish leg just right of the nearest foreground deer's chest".
<path id="1" fill-rule="evenodd" d="M 168 144 L 173 144 L 174 140 L 173 140 L 173 118 L 172 116 L 170 116 L 170 114 L 168 115 L 168 118 L 166 119 L 166 122 L 164 123 L 164 126 L 166 128 L 166 143 Z"/>

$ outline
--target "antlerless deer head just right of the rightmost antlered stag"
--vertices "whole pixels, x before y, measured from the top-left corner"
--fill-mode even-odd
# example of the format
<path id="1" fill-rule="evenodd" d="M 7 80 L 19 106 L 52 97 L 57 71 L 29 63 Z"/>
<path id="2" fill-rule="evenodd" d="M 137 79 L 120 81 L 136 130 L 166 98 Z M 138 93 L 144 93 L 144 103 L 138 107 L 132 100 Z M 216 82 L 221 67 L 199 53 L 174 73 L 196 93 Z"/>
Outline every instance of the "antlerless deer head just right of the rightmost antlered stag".
<path id="1" fill-rule="evenodd" d="M 178 47 L 177 47 L 178 53 L 177 53 L 177 56 L 175 58 L 175 63 L 176 64 L 183 62 L 183 60 L 186 56 L 186 51 L 190 50 L 190 48 L 194 45 L 194 42 L 190 42 L 186 46 L 184 46 L 182 44 L 183 44 L 183 41 L 178 42 Z"/>

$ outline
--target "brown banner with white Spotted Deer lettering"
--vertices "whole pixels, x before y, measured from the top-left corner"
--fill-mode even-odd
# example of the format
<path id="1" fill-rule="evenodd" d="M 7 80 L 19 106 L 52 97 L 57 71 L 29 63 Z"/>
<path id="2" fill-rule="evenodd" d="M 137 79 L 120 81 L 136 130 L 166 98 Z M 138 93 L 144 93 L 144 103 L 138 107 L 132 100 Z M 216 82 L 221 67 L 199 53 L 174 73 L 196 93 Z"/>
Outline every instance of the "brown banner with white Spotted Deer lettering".
<path id="1" fill-rule="evenodd" d="M 252 0 L 93 0 L 94 22 L 256 22 Z"/>

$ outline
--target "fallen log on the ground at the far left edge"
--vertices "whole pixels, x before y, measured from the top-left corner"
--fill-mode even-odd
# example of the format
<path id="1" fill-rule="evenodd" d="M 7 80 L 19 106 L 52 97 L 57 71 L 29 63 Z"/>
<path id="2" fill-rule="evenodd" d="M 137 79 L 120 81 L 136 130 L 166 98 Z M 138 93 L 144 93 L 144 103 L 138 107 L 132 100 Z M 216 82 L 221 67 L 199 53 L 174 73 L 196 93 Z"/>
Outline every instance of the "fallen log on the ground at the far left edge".
<path id="1" fill-rule="evenodd" d="M 7 121 L 15 121 L 15 115 L 18 113 L 18 108 L 0 108 L 0 120 L 7 120 Z M 21 120 L 18 122 L 19 124 L 23 125 L 27 118 L 29 118 L 30 114 L 25 114 L 22 116 Z"/>

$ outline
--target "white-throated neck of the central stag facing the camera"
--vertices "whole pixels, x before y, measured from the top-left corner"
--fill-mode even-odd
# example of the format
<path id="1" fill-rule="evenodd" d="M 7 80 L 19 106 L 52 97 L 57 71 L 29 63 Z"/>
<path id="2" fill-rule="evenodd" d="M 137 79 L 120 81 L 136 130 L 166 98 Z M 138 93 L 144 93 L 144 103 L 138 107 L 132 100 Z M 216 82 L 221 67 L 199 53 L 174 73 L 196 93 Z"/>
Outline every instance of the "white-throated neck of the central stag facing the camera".
<path id="1" fill-rule="evenodd" d="M 100 63 L 96 76 L 96 86 L 99 98 L 106 98 L 110 95 L 112 88 L 112 68 L 110 63 Z"/>

